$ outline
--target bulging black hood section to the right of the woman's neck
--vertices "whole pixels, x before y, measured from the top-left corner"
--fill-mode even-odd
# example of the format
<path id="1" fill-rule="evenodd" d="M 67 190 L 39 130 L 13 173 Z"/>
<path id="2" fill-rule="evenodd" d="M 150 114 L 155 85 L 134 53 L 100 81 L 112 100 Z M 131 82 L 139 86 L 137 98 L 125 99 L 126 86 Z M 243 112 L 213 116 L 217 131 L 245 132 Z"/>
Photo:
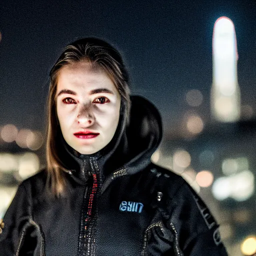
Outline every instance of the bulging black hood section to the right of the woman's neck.
<path id="1" fill-rule="evenodd" d="M 150 163 L 150 158 L 162 138 L 161 117 L 156 107 L 141 96 L 131 96 L 130 123 L 125 132 L 128 158 L 124 163 L 133 174 Z"/>

